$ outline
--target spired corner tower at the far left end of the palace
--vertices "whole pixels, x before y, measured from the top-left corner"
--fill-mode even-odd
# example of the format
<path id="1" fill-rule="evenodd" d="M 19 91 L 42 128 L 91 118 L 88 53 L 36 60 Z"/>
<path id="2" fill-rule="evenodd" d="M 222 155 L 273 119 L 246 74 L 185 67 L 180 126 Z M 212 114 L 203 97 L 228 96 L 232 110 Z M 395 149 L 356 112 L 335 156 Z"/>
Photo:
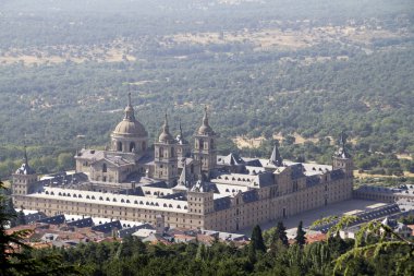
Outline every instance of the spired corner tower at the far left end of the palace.
<path id="1" fill-rule="evenodd" d="M 24 146 L 24 161 L 22 166 L 13 173 L 13 195 L 28 194 L 37 182 L 37 173 L 28 165 L 26 145 Z"/>

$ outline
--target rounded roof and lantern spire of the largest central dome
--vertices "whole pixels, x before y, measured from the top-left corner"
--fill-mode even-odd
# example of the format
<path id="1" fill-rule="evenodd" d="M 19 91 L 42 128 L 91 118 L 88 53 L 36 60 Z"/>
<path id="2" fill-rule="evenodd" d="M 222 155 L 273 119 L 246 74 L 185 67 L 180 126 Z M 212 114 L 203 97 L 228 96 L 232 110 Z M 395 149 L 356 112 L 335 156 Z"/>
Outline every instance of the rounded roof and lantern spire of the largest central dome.
<path id="1" fill-rule="evenodd" d="M 129 93 L 129 105 L 125 107 L 125 116 L 113 130 L 113 134 L 122 136 L 146 137 L 148 136 L 144 125 L 135 119 L 135 111 L 131 105 L 131 93 Z"/>

